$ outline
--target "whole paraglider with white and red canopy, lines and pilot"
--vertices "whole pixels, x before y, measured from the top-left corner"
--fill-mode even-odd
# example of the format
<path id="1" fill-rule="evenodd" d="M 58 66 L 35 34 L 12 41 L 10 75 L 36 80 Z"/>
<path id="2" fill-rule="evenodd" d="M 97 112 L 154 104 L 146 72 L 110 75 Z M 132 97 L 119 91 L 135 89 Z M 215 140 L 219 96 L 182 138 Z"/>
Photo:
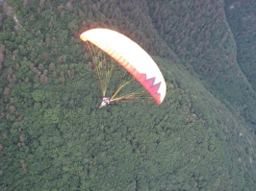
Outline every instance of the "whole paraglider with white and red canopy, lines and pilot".
<path id="1" fill-rule="evenodd" d="M 132 39 L 109 29 L 91 29 L 81 34 L 80 38 L 86 42 L 91 62 L 100 84 L 103 101 L 107 106 L 111 102 L 138 101 L 153 98 L 160 105 L 166 96 L 166 82 L 154 60 Z M 105 94 L 109 86 L 116 65 L 124 69 L 115 93 L 108 98 Z M 118 73 L 118 72 L 117 72 Z M 128 74 L 128 75 L 127 75 Z M 127 77 L 128 76 L 128 77 Z M 130 77 L 129 77 L 130 76 Z M 128 86 L 138 82 L 139 90 L 129 90 L 128 93 L 119 93 Z M 147 95 L 146 95 L 147 94 Z"/>

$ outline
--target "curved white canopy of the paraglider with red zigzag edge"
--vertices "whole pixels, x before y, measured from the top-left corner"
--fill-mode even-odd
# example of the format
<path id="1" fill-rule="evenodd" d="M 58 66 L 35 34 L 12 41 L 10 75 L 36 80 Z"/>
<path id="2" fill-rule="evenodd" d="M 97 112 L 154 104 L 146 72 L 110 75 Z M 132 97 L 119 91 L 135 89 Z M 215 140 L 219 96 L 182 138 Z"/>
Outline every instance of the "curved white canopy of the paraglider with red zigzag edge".
<path id="1" fill-rule="evenodd" d="M 166 82 L 154 60 L 136 42 L 109 29 L 91 29 L 80 38 L 116 60 L 161 104 L 166 96 Z M 114 101 L 112 98 L 111 102 Z"/>

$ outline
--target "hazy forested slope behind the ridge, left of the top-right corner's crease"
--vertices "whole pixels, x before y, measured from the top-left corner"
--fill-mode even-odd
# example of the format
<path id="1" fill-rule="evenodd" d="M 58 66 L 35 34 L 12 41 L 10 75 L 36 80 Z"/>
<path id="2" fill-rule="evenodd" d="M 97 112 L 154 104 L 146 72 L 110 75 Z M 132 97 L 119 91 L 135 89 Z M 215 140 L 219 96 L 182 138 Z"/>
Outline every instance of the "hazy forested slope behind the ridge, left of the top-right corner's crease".
<path id="1" fill-rule="evenodd" d="M 171 1 L 167 6 L 165 2 L 155 2 L 151 9 L 154 8 L 152 18 L 156 28 L 187 68 L 199 74 L 208 89 L 226 105 L 241 107 L 243 117 L 255 124 L 255 92 L 238 65 L 237 57 L 243 54 L 237 54 L 223 2 Z M 250 73 L 253 71 L 252 68 Z"/>

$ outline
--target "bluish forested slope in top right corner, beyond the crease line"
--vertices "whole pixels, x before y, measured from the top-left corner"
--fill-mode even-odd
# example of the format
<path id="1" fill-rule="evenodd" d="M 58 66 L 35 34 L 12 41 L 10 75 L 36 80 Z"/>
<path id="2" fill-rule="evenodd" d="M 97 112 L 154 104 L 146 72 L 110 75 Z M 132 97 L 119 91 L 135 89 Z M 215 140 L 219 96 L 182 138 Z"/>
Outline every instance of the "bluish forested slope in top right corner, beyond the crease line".
<path id="1" fill-rule="evenodd" d="M 237 60 L 243 74 L 256 90 L 256 2 L 226 1 L 225 11 L 229 26 L 236 38 Z"/>

